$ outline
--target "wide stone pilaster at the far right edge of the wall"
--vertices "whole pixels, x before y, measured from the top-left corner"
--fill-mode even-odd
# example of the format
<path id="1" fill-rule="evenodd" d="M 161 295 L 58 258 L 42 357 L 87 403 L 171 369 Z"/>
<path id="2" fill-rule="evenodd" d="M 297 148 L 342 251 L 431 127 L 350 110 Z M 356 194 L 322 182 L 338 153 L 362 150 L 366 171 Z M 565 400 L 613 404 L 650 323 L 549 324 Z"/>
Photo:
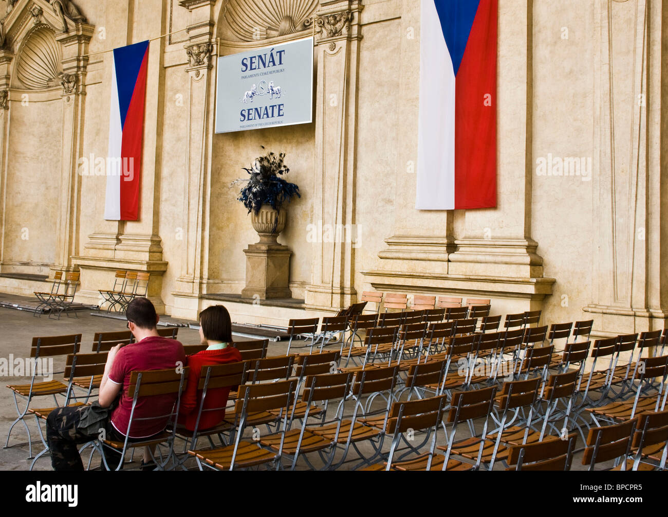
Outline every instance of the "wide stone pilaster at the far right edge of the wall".
<path id="1" fill-rule="evenodd" d="M 663 3 L 595 3 L 592 303 L 597 334 L 664 328 Z M 623 51 L 621 51 L 623 49 Z M 648 72 L 649 71 L 649 72 Z"/>

